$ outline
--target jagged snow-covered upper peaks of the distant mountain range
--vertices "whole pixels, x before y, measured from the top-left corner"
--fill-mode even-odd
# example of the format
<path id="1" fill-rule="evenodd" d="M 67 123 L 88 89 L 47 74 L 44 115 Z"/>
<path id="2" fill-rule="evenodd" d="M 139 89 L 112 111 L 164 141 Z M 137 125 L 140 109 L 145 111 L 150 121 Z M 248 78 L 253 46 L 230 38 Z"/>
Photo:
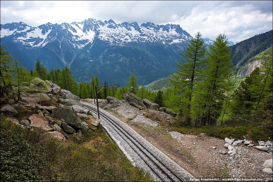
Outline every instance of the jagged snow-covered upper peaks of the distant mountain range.
<path id="1" fill-rule="evenodd" d="M 192 37 L 179 25 L 155 25 L 136 22 L 116 24 L 113 20 L 96 21 L 87 19 L 83 22 L 51 24 L 31 27 L 23 22 L 1 25 L 1 38 L 12 36 L 13 41 L 31 47 L 43 47 L 55 40 L 67 39 L 75 49 L 81 49 L 96 38 L 114 45 L 126 43 L 151 42 L 176 44 L 187 42 Z"/>

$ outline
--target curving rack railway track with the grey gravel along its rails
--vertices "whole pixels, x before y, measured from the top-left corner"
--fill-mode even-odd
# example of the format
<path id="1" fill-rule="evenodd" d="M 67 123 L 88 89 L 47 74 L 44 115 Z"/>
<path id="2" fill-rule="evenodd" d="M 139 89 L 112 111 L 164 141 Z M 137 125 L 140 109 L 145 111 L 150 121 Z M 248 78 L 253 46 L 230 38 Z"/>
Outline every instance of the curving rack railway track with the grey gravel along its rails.
<path id="1" fill-rule="evenodd" d="M 93 115 L 97 113 L 95 106 L 83 103 L 85 108 L 90 109 L 93 112 Z M 132 130 L 127 129 L 125 125 L 121 124 L 117 120 L 113 119 L 109 113 L 106 113 L 103 110 L 99 110 L 99 115 L 102 120 L 107 123 L 107 128 L 111 128 L 112 131 L 115 131 L 132 149 L 135 155 L 139 156 L 141 160 L 150 168 L 150 171 L 156 176 L 159 180 L 162 181 L 184 181 L 177 174 L 173 168 L 173 165 L 170 165 L 170 162 L 160 159 L 158 153 L 151 150 L 152 146 L 147 146 L 139 141 L 133 133 Z M 112 132 L 113 133 L 113 132 Z"/>

